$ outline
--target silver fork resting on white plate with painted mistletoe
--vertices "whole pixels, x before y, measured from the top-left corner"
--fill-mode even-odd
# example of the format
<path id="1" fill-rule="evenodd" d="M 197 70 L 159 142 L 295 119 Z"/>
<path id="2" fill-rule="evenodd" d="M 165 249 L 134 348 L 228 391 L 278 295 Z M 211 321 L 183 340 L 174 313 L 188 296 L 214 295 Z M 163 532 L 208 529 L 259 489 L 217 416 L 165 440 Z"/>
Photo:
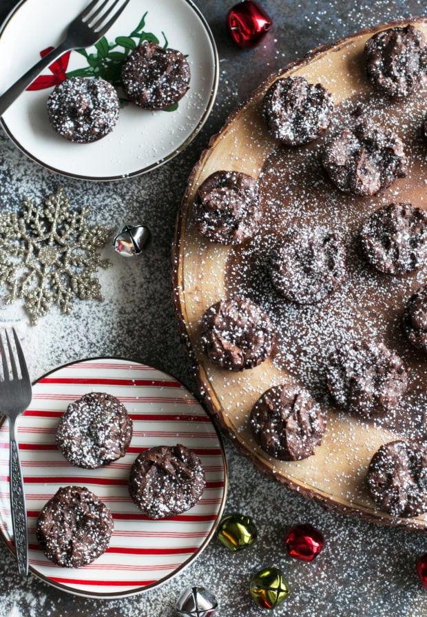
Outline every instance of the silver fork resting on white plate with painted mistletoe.
<path id="1" fill-rule="evenodd" d="M 109 2 L 110 0 L 104 0 L 101 6 L 97 6 L 100 0 L 93 0 L 75 19 L 73 19 L 68 25 L 67 30 L 65 30 L 62 43 L 39 60 L 37 64 L 0 96 L 0 116 L 3 116 L 6 109 L 12 105 L 19 94 L 36 79 L 45 67 L 52 64 L 56 58 L 59 58 L 59 56 L 62 56 L 62 54 L 70 50 L 90 47 L 90 45 L 94 45 L 99 41 L 99 39 L 104 36 L 105 32 L 111 28 L 114 21 L 121 15 L 123 10 L 125 10 L 129 0 L 114 0 L 112 4 L 110 3 L 110 6 L 107 6 Z M 116 8 L 119 2 L 119 8 L 112 14 L 113 9 Z M 110 15 L 112 15 L 112 17 L 110 17 Z M 105 21 L 108 17 L 110 17 L 110 19 Z"/>

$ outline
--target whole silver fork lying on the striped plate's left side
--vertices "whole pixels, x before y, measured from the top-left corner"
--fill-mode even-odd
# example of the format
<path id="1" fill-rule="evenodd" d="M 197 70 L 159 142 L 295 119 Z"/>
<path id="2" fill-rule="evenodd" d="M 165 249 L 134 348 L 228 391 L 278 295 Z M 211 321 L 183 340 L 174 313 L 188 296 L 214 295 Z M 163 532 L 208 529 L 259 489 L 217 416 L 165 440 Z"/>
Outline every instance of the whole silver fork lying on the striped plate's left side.
<path id="1" fill-rule="evenodd" d="M 3 378 L 0 375 L 0 411 L 9 420 L 9 443 L 10 443 L 10 511 L 12 514 L 12 531 L 17 552 L 18 571 L 22 576 L 28 574 L 28 530 L 27 508 L 25 506 L 25 492 L 19 448 L 17 440 L 17 419 L 31 402 L 31 381 L 28 375 L 27 365 L 23 357 L 21 344 L 17 333 L 12 328 L 14 343 L 17 350 L 18 364 L 21 377 L 18 374 L 17 364 L 14 359 L 10 335 L 4 330 L 5 342 L 0 331 L 0 354 L 3 366 Z M 10 362 L 10 369 L 8 364 Z M 10 370 L 12 377 L 10 377 Z"/>

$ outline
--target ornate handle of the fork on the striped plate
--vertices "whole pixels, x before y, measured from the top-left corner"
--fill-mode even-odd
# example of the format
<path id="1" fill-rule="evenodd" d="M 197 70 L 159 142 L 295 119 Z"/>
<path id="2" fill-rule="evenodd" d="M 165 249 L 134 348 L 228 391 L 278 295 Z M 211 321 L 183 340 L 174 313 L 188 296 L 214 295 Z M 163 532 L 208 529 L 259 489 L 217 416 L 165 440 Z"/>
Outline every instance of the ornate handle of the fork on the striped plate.
<path id="1" fill-rule="evenodd" d="M 25 505 L 25 492 L 23 489 L 23 477 L 19 448 L 16 437 L 15 423 L 10 423 L 10 511 L 12 513 L 12 531 L 14 536 L 15 550 L 17 552 L 18 572 L 21 576 L 28 574 L 28 527 L 27 507 Z"/>

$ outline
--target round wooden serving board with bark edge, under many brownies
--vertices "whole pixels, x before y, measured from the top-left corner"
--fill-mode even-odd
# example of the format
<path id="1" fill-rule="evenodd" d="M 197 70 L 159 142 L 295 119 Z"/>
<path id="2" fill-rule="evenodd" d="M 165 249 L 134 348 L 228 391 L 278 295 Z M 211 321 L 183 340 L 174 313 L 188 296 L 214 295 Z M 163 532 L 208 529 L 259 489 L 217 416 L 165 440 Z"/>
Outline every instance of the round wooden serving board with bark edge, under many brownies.
<path id="1" fill-rule="evenodd" d="M 414 19 L 413 23 L 426 35 L 426 19 Z M 366 483 L 369 463 L 382 444 L 397 439 L 427 440 L 427 356 L 410 344 L 402 328 L 404 307 L 426 282 L 427 268 L 424 264 L 410 273 L 382 273 L 360 250 L 360 231 L 374 211 L 390 202 L 410 202 L 426 209 L 427 145 L 421 137 L 427 111 L 425 82 L 418 93 L 390 101 L 375 92 L 364 67 L 366 41 L 375 32 L 407 24 L 379 25 L 311 52 L 270 76 L 227 118 L 189 179 L 177 225 L 174 282 L 178 320 L 191 346 L 206 404 L 260 470 L 339 512 L 424 530 L 426 514 L 404 518 L 384 512 L 371 499 Z M 326 177 L 320 164 L 329 135 L 301 147 L 279 145 L 267 129 L 262 102 L 269 87 L 283 77 L 304 77 L 331 92 L 333 131 L 355 121 L 360 112 L 392 129 L 404 143 L 407 175 L 370 196 L 344 193 Z M 252 240 L 238 246 L 211 242 L 198 229 L 193 206 L 198 187 L 219 170 L 258 179 L 262 225 Z M 339 289 L 316 304 L 284 300 L 273 288 L 271 266 L 264 255 L 289 230 L 319 226 L 344 241 L 346 277 Z M 236 295 L 256 302 L 269 314 L 276 341 L 262 364 L 231 371 L 209 360 L 202 324 L 209 307 Z M 334 406 L 326 388 L 331 354 L 366 339 L 378 349 L 385 344 L 396 352 L 408 375 L 408 388 L 397 410 L 383 417 L 364 418 Z M 326 432 L 313 456 L 284 461 L 256 443 L 251 409 L 268 388 L 295 383 L 305 386 L 322 404 Z"/>

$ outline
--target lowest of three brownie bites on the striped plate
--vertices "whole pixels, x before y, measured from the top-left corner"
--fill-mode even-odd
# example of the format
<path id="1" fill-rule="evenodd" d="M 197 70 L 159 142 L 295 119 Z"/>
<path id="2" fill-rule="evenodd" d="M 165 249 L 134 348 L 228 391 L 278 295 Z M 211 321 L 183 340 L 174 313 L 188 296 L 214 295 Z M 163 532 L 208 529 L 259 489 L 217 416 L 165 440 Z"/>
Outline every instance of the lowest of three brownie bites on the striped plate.
<path id="1" fill-rule="evenodd" d="M 37 540 L 45 556 L 62 567 L 92 563 L 110 545 L 110 509 L 84 486 L 63 486 L 37 520 Z"/>

